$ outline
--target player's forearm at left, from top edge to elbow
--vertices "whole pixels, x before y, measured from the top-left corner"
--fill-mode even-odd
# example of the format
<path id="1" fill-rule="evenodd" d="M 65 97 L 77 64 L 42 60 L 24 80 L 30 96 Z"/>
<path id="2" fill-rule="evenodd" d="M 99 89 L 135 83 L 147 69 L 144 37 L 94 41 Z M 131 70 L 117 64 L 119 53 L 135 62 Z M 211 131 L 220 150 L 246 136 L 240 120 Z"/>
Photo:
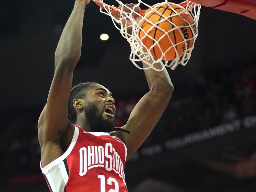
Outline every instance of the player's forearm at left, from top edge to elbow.
<path id="1" fill-rule="evenodd" d="M 85 1 L 76 0 L 55 52 L 55 69 L 58 67 L 75 68 L 80 59 L 85 6 Z"/>

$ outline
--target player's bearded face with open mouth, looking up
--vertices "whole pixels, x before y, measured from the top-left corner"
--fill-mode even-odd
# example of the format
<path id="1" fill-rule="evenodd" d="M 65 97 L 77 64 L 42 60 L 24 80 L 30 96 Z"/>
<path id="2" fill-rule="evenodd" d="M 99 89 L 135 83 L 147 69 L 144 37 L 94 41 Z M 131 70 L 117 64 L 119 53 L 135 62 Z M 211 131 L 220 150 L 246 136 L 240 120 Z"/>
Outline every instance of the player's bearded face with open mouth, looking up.
<path id="1" fill-rule="evenodd" d="M 93 132 L 109 132 L 114 127 L 115 100 L 102 85 L 92 84 L 85 99 L 84 113 Z"/>

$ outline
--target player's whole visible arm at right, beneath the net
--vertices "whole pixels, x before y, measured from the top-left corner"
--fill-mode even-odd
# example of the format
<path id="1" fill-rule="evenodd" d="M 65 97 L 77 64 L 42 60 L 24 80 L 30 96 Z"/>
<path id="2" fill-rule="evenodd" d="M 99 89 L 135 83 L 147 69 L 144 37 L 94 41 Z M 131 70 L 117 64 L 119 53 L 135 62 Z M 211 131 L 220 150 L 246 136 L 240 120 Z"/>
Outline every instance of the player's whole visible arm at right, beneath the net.
<path id="1" fill-rule="evenodd" d="M 162 62 L 158 63 L 158 69 L 163 68 Z M 147 67 L 143 63 L 143 67 Z M 156 66 L 155 66 L 156 67 Z M 144 95 L 123 127 L 130 134 L 122 134 L 122 140 L 127 146 L 127 158 L 131 156 L 146 140 L 156 123 L 162 116 L 173 92 L 173 85 L 166 68 L 158 72 L 153 69 L 145 70 L 150 91 Z"/>

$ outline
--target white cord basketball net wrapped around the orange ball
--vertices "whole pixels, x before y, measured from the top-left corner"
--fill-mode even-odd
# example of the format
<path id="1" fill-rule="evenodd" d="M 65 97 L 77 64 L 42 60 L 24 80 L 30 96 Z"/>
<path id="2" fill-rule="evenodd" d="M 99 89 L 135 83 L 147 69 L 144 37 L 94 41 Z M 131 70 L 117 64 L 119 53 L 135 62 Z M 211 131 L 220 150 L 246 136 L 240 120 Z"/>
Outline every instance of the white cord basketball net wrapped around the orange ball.
<path id="1" fill-rule="evenodd" d="M 130 60 L 137 68 L 139 68 L 139 69 L 152 68 L 156 71 L 162 71 L 162 70 L 164 70 L 165 67 L 168 67 L 168 68 L 171 68 L 172 70 L 174 70 L 179 64 L 185 66 L 188 63 L 188 60 L 190 59 L 190 56 L 191 56 L 191 52 L 194 49 L 195 40 L 198 36 L 197 29 L 198 29 L 198 20 L 199 20 L 199 16 L 200 16 L 200 8 L 201 8 L 200 4 L 196 4 L 194 2 L 186 0 L 185 2 L 181 3 L 185 9 L 182 10 L 181 12 L 177 12 L 171 7 L 171 3 L 169 4 L 167 2 L 167 0 L 165 0 L 163 3 L 156 4 L 153 7 L 142 2 L 141 0 L 138 0 L 138 4 L 134 5 L 133 8 L 128 7 L 127 5 L 125 5 L 124 3 L 122 3 L 119 0 L 115 0 L 120 5 L 119 8 L 115 7 L 114 5 L 112 5 L 112 6 L 108 5 L 108 4 L 104 3 L 103 0 L 93 0 L 93 1 L 100 6 L 100 12 L 111 17 L 115 27 L 120 31 L 121 35 L 130 44 L 131 50 L 132 50 L 131 54 L 130 54 Z M 172 9 L 172 12 L 174 13 L 167 17 L 165 17 L 162 13 L 158 12 L 154 8 L 154 7 L 159 7 L 162 5 L 166 6 L 166 4 L 168 4 L 168 6 L 169 6 L 168 9 Z M 149 11 L 145 15 L 143 15 L 145 10 L 139 10 L 138 12 L 134 11 L 136 8 L 138 9 L 139 6 L 143 6 L 143 7 L 146 6 L 148 9 L 152 9 L 152 11 Z M 126 12 L 124 11 L 124 9 L 126 9 Z M 130 12 L 127 12 L 127 9 L 129 9 Z M 148 20 L 147 16 L 149 14 L 152 14 L 152 12 L 153 13 L 156 12 L 157 14 L 160 14 L 162 16 L 162 20 L 160 20 L 156 23 L 152 23 L 150 20 Z M 175 30 L 175 33 L 177 33 L 177 30 L 178 30 L 178 32 L 180 32 L 180 34 L 182 35 L 182 30 L 181 30 L 180 26 L 177 26 L 175 23 L 172 23 L 170 18 L 179 16 L 180 18 L 182 18 L 182 20 L 186 21 L 181 16 L 181 14 L 184 14 L 184 12 L 189 13 L 193 17 L 193 23 L 190 24 L 189 22 L 186 22 L 187 26 L 182 26 L 182 28 L 185 28 L 185 27 L 191 28 L 192 32 L 193 32 L 193 36 L 191 38 L 187 38 L 187 39 L 185 39 L 183 37 L 183 41 L 175 44 L 173 41 L 173 37 L 170 37 L 170 35 L 173 33 L 170 33 L 170 32 Z M 120 17 L 118 19 L 116 19 L 113 16 L 116 13 L 118 13 L 118 15 L 120 15 Z M 134 15 L 138 15 L 139 17 L 141 17 L 141 20 L 138 23 L 134 19 Z M 131 22 L 129 22 L 129 20 Z M 164 35 L 162 37 L 160 37 L 158 39 L 158 41 L 156 41 L 153 37 L 148 35 L 147 31 L 144 31 L 143 28 L 140 27 L 142 20 L 144 20 L 144 21 L 146 20 L 148 23 L 150 23 L 152 25 L 152 28 L 157 28 L 158 30 L 164 31 L 162 28 L 159 27 L 159 23 L 165 22 L 165 21 L 169 22 L 173 26 L 173 28 L 170 29 L 169 31 L 164 31 Z M 148 38 L 152 39 L 153 43 L 152 43 L 151 47 L 146 48 L 146 46 L 143 44 L 143 42 L 142 42 L 143 38 L 140 38 L 140 36 L 139 36 L 140 30 L 142 30 L 144 32 L 144 34 L 146 34 L 148 36 Z M 129 33 L 128 33 L 128 31 L 129 31 Z M 159 45 L 160 39 L 164 38 L 164 36 L 168 36 L 168 38 L 171 42 L 170 47 L 166 51 L 163 51 L 161 49 L 161 46 Z M 189 44 L 189 46 L 188 46 L 188 42 L 193 42 L 193 43 L 192 43 L 192 45 Z M 182 51 L 182 53 L 179 53 L 177 50 L 178 44 L 184 44 L 184 46 L 183 46 L 184 50 Z M 160 51 L 162 52 L 162 56 L 160 58 L 153 57 L 153 55 L 151 53 L 151 49 L 153 49 L 154 46 L 159 47 Z M 168 61 L 165 59 L 165 54 L 170 49 L 174 49 L 175 57 L 173 60 Z M 164 67 L 162 69 L 155 68 L 154 64 L 159 63 L 161 60 L 164 62 Z M 143 68 L 143 66 L 140 67 L 139 66 L 139 63 L 141 63 L 140 61 L 147 64 L 148 67 L 147 68 Z"/>

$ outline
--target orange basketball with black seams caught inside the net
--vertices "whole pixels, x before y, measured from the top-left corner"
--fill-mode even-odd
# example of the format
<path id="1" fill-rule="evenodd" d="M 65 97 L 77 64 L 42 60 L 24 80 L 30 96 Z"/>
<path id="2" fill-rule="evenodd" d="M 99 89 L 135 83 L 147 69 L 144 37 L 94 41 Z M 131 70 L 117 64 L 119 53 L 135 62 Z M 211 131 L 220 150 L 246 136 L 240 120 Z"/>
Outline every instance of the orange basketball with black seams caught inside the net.
<path id="1" fill-rule="evenodd" d="M 168 4 L 172 8 L 170 8 Z M 159 5 L 153 6 L 155 10 L 157 10 L 162 15 L 156 12 L 154 9 L 152 11 L 151 8 L 144 13 L 143 15 L 144 17 L 140 21 L 140 27 L 148 35 L 145 34 L 143 30 L 139 30 L 139 37 L 146 48 L 150 49 L 150 47 L 152 47 L 156 43 L 156 41 L 158 41 L 159 45 L 155 44 L 155 46 L 150 49 L 150 52 L 153 55 L 153 57 L 160 59 L 162 56 L 162 52 L 163 53 L 166 52 L 167 49 L 169 49 L 174 44 L 174 46 L 165 53 L 165 58 L 163 57 L 162 60 L 164 59 L 173 60 L 176 56 L 180 56 L 186 50 L 186 46 L 187 46 L 187 49 L 192 47 L 194 39 L 190 39 L 190 38 L 194 37 L 193 31 L 196 34 L 196 28 L 194 27 L 195 25 L 193 25 L 193 27 L 188 27 L 189 25 L 194 23 L 193 17 L 188 12 L 183 12 L 180 14 L 180 16 L 175 15 L 176 12 L 180 13 L 185 9 L 179 4 L 173 4 L 173 3 L 168 3 L 168 4 L 164 4 L 161 6 Z M 176 12 L 174 12 L 172 9 L 174 9 Z M 174 16 L 170 17 L 171 15 L 174 15 Z M 168 20 L 171 21 L 172 23 L 169 22 L 168 20 L 165 20 L 164 17 L 165 18 L 169 17 Z M 157 26 L 159 28 L 162 28 L 163 31 L 155 26 L 152 27 L 153 25 L 150 22 L 148 22 L 145 18 L 154 24 L 160 21 L 160 23 L 157 24 Z M 180 30 L 176 28 L 175 25 L 179 26 Z M 187 26 L 187 27 L 182 27 L 182 26 Z M 171 29 L 173 30 L 170 31 Z M 167 34 L 170 36 L 170 38 L 168 37 Z M 154 40 L 149 36 L 152 37 Z M 190 39 L 190 40 L 186 40 L 186 39 Z M 174 47 L 177 49 L 178 55 L 176 54 Z M 160 48 L 162 49 L 162 51 Z"/>

